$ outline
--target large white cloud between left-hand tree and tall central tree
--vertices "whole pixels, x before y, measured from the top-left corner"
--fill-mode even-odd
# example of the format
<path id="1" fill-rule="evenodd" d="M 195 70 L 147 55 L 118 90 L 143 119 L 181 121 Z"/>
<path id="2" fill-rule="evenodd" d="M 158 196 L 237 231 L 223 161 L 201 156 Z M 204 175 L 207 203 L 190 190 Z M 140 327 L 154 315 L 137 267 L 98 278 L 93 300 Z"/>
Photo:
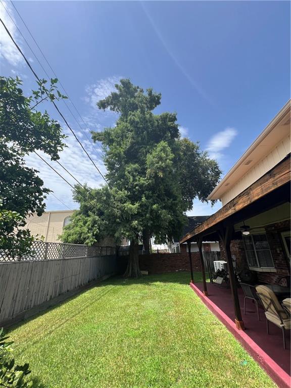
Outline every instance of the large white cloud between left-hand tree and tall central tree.
<path id="1" fill-rule="evenodd" d="M 79 140 L 82 142 L 85 150 L 88 152 L 94 163 L 101 170 L 102 174 L 106 174 L 106 167 L 102 160 L 102 149 L 100 143 L 93 143 L 91 140 L 90 130 L 101 131 L 105 126 L 112 126 L 118 115 L 115 112 L 103 112 L 98 109 L 96 102 L 104 99 L 112 91 L 115 90 L 114 85 L 119 82 L 121 77 L 109 77 L 101 79 L 86 88 L 85 101 L 88 103 L 87 112 L 82 113 L 82 117 L 87 125 L 85 128 L 82 125 L 83 131 L 77 127 L 76 123 L 70 124 Z M 102 176 L 93 166 L 92 162 L 86 156 L 80 145 L 74 138 L 69 129 L 60 122 L 64 133 L 68 135 L 65 139 L 67 148 L 60 153 L 60 163 L 64 165 L 82 184 L 87 183 L 90 187 L 100 187 L 106 184 Z M 64 178 L 72 185 L 76 181 L 60 167 L 56 162 L 50 160 L 49 157 L 41 152 L 38 152 L 48 163 L 50 163 Z M 72 199 L 72 187 L 70 187 L 61 177 L 57 175 L 49 166 L 47 166 L 35 154 L 30 154 L 26 158 L 27 165 L 39 171 L 39 176 L 44 182 L 44 186 L 54 191 L 54 195 L 71 209 L 78 208 Z M 46 210 L 66 210 L 66 206 L 60 203 L 53 195 L 49 195 L 46 199 Z"/>

